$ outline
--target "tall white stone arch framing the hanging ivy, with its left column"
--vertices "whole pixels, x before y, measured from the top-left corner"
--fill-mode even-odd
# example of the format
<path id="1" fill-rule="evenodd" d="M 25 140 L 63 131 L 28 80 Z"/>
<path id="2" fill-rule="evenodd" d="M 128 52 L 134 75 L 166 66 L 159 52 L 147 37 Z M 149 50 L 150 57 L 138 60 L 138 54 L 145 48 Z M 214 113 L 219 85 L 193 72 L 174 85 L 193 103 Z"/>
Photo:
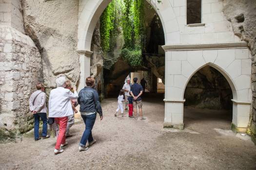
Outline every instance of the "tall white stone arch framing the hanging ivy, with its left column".
<path id="1" fill-rule="evenodd" d="M 91 40 L 98 18 L 111 0 L 80 0 L 78 25 L 78 53 L 80 60 L 79 89 L 84 86 L 85 78 L 90 75 Z M 177 17 L 172 4 L 168 0 L 155 4 L 154 0 L 147 0 L 155 8 L 160 17 L 165 43 L 180 43 Z M 157 9 L 156 9 L 157 7 Z"/>

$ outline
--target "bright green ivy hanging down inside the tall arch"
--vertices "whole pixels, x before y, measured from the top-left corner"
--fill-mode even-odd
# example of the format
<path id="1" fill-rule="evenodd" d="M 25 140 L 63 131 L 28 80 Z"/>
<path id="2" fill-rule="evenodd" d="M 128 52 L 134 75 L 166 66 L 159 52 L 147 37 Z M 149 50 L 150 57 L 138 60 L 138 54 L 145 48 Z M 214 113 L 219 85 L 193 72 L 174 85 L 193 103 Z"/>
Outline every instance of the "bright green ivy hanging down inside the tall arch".
<path id="1" fill-rule="evenodd" d="M 114 51 L 117 35 L 123 34 L 123 60 L 132 67 L 142 65 L 146 37 L 144 8 L 144 0 L 112 0 L 109 3 L 100 17 L 101 47 L 105 55 Z"/>

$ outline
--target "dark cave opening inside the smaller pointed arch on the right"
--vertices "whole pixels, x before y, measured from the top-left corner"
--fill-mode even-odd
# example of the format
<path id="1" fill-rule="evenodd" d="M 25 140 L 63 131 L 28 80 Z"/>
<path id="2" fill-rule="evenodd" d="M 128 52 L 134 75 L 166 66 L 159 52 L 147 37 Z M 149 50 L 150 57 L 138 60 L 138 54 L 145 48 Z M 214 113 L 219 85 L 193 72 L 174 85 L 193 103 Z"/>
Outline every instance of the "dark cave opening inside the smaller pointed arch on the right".
<path id="1" fill-rule="evenodd" d="M 206 125 L 223 123 L 223 128 L 230 128 L 233 93 L 227 79 L 217 69 L 211 66 L 199 69 L 189 80 L 184 99 L 187 126 L 206 121 Z"/>

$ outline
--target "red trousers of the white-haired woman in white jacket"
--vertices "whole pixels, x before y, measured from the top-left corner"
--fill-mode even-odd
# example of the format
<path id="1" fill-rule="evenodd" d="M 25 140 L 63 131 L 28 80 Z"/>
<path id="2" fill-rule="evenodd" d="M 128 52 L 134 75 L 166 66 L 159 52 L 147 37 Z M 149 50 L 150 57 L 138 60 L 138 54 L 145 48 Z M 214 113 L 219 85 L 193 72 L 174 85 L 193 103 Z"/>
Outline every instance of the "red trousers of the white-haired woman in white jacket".
<path id="1" fill-rule="evenodd" d="M 65 144 L 66 142 L 66 128 L 68 117 L 54 118 L 54 121 L 56 121 L 56 123 L 59 124 L 59 135 L 57 137 L 57 142 L 55 145 L 55 149 L 59 150 L 60 144 Z"/>

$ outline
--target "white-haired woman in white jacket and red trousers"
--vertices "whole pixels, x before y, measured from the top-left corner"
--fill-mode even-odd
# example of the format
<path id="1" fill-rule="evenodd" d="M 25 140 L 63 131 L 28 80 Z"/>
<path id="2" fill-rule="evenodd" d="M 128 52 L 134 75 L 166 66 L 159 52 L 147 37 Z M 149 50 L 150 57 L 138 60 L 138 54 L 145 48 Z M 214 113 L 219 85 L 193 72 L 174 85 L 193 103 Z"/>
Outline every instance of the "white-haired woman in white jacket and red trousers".
<path id="1" fill-rule="evenodd" d="M 49 97 L 49 118 L 54 118 L 54 121 L 59 124 L 59 135 L 55 145 L 54 154 L 62 153 L 64 150 L 60 147 L 67 145 L 66 143 L 66 128 L 68 116 L 73 115 L 73 109 L 70 99 L 77 99 L 77 88 L 74 86 L 74 93 L 69 89 L 64 88 L 66 77 L 61 76 L 56 79 L 57 88 L 51 90 Z"/>

